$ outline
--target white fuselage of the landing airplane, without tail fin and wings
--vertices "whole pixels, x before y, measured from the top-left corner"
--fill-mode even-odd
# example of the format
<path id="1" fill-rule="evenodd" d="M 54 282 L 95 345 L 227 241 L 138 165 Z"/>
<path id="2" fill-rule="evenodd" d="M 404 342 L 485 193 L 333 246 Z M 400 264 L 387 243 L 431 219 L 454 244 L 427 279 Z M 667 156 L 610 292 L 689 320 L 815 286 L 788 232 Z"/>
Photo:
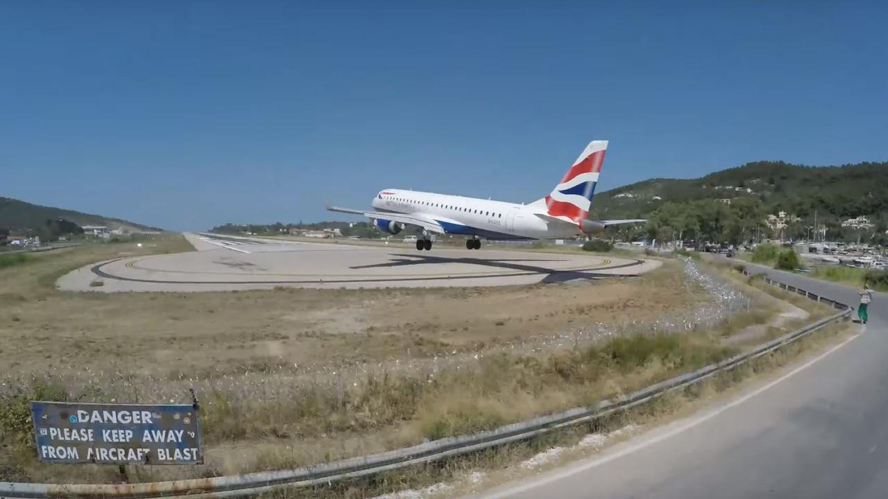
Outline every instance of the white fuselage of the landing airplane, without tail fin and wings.
<path id="1" fill-rule="evenodd" d="M 373 199 L 377 211 L 408 214 L 435 221 L 447 234 L 489 240 L 555 239 L 583 235 L 579 226 L 548 224 L 543 202 L 516 204 L 449 194 L 385 189 Z"/>

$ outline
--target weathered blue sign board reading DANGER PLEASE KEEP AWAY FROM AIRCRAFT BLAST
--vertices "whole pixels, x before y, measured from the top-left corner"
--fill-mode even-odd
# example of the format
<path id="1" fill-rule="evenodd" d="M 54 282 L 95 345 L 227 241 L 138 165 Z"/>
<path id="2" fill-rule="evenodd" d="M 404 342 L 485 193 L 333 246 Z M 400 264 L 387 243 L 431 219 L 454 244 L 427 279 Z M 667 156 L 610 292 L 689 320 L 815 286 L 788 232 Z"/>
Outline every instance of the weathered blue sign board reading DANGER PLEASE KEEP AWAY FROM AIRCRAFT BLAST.
<path id="1" fill-rule="evenodd" d="M 192 405 L 31 402 L 37 457 L 46 463 L 201 464 Z"/>

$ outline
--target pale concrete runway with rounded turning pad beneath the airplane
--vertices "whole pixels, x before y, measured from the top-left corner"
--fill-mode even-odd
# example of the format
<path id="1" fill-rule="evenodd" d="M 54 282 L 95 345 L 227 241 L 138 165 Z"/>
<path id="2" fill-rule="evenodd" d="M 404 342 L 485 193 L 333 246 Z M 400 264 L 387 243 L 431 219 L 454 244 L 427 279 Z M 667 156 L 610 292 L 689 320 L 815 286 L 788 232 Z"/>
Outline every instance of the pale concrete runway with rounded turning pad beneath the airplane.
<path id="1" fill-rule="evenodd" d="M 406 244 L 362 246 L 186 234 L 196 251 L 121 257 L 67 273 L 78 291 L 506 286 L 634 275 L 656 260 L 510 249 L 418 251 Z M 91 283 L 101 281 L 100 287 Z"/>

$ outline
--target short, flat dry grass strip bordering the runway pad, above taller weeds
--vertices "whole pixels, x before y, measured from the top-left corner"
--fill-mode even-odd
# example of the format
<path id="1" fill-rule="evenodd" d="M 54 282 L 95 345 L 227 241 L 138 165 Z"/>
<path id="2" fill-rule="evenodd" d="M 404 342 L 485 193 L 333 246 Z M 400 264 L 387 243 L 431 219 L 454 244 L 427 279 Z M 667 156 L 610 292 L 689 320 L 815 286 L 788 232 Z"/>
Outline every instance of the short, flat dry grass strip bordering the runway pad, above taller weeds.
<path id="1" fill-rule="evenodd" d="M 180 238 L 142 252 L 186 249 Z M 0 270 L 0 372 L 70 366 L 165 375 L 430 355 L 646 321 L 705 297 L 677 268 L 640 279 L 478 289 L 59 292 L 67 270 L 136 254 L 97 244 Z M 200 352 L 195 355 L 194 352 Z"/>

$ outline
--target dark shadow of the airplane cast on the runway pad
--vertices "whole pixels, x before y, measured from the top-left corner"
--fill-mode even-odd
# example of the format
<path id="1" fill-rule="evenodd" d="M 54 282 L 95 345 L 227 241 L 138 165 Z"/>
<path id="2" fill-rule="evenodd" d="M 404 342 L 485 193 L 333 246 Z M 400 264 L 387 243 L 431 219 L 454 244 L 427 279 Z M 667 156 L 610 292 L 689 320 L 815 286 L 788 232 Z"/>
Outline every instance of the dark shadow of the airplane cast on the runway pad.
<path id="1" fill-rule="evenodd" d="M 392 261 L 385 264 L 373 265 L 357 265 L 349 267 L 353 270 L 364 268 L 392 268 L 407 265 L 427 265 L 427 264 L 467 264 L 482 265 L 495 268 L 503 268 L 518 271 L 520 273 L 542 273 L 546 276 L 543 283 L 555 283 L 574 281 L 577 279 L 594 279 L 599 277 L 613 277 L 609 273 L 596 273 L 595 270 L 601 270 L 599 267 L 591 267 L 588 269 L 575 270 L 557 270 L 537 265 L 519 264 L 516 262 L 565 262 L 567 258 L 515 258 L 515 259 L 497 259 L 497 258 L 474 258 L 474 257 L 436 257 L 433 255 L 416 255 L 416 254 L 393 254 Z M 631 265 L 638 265 L 641 260 L 634 261 L 625 265 L 614 265 L 607 267 L 608 269 L 621 268 Z"/>

